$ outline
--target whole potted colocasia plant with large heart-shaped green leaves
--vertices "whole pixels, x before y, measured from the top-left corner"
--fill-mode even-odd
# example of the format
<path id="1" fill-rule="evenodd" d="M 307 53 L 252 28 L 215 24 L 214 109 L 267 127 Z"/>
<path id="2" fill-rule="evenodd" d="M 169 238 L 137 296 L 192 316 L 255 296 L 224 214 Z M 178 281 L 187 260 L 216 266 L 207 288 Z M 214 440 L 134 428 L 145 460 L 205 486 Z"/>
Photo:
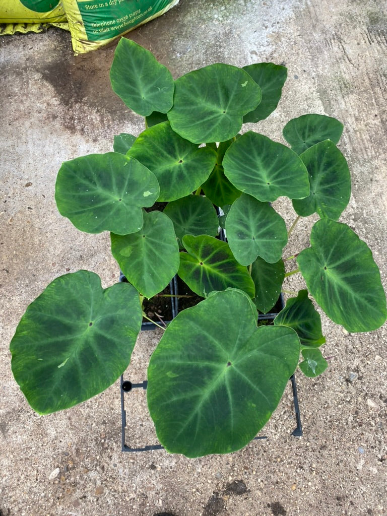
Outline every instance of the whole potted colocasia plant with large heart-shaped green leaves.
<path id="1" fill-rule="evenodd" d="M 103 289 L 95 273 L 80 270 L 29 305 L 10 349 L 14 377 L 38 413 L 67 409 L 119 378 L 141 328 L 141 301 L 176 274 L 203 299 L 164 331 L 147 393 L 160 442 L 187 457 L 245 446 L 298 365 L 310 377 L 325 370 L 310 298 L 348 332 L 384 323 L 372 253 L 337 222 L 351 191 L 336 147 L 343 125 L 323 115 L 295 118 L 283 129 L 291 147 L 240 134 L 276 109 L 286 74 L 272 63 L 218 63 L 173 80 L 150 52 L 121 39 L 111 85 L 147 128 L 137 138 L 116 136 L 114 152 L 63 163 L 55 198 L 79 230 L 110 232 L 127 282 Z M 310 247 L 298 250 L 286 274 L 282 251 L 294 226 L 288 231 L 271 205 L 283 196 L 297 219 L 319 216 Z M 227 241 L 217 237 L 219 226 Z M 272 309 L 295 272 L 307 288 L 272 325 L 257 326 L 258 311 Z"/>

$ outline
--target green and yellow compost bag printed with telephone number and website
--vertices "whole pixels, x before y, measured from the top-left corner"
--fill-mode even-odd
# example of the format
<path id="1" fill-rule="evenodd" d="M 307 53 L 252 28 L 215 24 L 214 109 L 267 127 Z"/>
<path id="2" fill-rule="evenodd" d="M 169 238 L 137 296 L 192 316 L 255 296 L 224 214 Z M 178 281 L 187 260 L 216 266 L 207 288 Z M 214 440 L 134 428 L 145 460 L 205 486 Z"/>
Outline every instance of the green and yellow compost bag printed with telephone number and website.
<path id="1" fill-rule="evenodd" d="M 97 49 L 149 22 L 179 0 L 62 0 L 75 54 Z"/>

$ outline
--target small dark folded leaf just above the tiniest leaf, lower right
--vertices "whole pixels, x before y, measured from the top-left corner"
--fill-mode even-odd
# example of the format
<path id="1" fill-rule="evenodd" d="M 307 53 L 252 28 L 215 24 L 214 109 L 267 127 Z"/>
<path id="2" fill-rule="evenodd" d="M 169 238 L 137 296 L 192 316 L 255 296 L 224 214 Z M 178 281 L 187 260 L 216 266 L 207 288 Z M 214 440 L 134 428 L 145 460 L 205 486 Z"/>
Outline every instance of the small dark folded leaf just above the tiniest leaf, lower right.
<path id="1" fill-rule="evenodd" d="M 320 314 L 315 310 L 307 290 L 286 301 L 286 306 L 274 319 L 274 324 L 293 328 L 303 346 L 319 347 L 325 343 L 321 332 Z"/>

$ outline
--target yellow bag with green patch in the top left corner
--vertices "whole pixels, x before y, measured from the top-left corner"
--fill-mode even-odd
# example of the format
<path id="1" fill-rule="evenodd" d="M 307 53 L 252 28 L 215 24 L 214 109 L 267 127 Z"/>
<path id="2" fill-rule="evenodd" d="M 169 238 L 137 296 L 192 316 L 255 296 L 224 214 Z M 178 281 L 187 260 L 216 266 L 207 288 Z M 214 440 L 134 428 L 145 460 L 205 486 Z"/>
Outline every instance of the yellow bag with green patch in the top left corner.
<path id="1" fill-rule="evenodd" d="M 60 0 L 1 0 L 0 35 L 40 32 L 47 25 L 67 28 L 66 14 Z"/>

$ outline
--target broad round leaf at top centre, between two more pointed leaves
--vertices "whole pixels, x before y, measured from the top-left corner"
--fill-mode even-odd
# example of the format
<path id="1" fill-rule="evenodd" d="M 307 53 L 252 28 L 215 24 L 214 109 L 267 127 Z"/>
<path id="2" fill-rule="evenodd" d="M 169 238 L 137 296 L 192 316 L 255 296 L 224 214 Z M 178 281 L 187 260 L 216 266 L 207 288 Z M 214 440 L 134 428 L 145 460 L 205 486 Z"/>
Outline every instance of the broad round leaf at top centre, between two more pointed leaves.
<path id="1" fill-rule="evenodd" d="M 217 63 L 175 81 L 168 119 L 176 133 L 193 143 L 225 141 L 239 132 L 244 115 L 261 97 L 261 88 L 247 72 Z"/>

